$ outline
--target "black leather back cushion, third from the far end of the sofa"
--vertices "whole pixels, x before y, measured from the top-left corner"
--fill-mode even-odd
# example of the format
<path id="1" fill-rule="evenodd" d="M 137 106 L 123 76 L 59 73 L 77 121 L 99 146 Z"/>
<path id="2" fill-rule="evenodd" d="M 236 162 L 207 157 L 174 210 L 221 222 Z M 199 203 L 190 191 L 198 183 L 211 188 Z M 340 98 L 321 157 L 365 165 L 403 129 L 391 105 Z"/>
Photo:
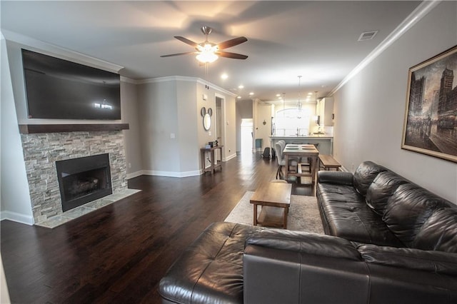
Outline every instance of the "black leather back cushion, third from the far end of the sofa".
<path id="1" fill-rule="evenodd" d="M 406 183 L 388 199 L 383 221 L 406 247 L 411 247 L 423 224 L 438 209 L 452 206 L 420 186 Z"/>

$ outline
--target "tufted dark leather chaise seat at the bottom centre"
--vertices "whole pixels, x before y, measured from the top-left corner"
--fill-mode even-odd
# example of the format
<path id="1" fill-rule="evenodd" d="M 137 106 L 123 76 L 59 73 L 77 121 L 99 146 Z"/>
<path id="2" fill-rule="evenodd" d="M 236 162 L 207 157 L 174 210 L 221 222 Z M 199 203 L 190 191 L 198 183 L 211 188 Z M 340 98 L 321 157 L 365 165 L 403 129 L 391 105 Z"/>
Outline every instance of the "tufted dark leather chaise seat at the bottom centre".
<path id="1" fill-rule="evenodd" d="M 243 250 L 264 228 L 214 223 L 184 251 L 159 283 L 170 303 L 243 303 Z"/>

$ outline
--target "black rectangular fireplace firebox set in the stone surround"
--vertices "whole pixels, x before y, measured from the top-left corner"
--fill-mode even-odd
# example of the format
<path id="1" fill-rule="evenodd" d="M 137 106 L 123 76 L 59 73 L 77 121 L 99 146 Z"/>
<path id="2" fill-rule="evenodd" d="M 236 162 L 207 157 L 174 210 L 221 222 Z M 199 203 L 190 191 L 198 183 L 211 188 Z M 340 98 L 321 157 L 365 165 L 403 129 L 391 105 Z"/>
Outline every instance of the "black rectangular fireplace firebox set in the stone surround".
<path id="1" fill-rule="evenodd" d="M 56 161 L 62 211 L 113 193 L 109 154 Z"/>

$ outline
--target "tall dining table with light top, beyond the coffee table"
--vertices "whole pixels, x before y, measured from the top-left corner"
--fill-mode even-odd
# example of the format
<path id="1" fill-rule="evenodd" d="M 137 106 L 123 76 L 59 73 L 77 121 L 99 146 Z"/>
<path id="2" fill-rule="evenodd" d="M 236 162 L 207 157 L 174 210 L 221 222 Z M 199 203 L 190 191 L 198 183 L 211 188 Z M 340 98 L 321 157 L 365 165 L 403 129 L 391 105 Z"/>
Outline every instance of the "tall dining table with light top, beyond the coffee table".
<path id="1" fill-rule="evenodd" d="M 313 144 L 287 144 L 283 150 L 284 160 L 286 161 L 286 181 L 288 181 L 288 176 L 309 176 L 311 177 L 311 182 L 314 184 L 316 182 L 316 172 L 318 171 L 318 156 L 319 151 Z M 311 158 L 311 163 L 309 166 L 311 172 L 309 171 L 290 171 L 288 167 L 289 159 L 297 158 L 297 166 L 301 166 L 301 159 L 306 158 L 306 163 L 308 163 L 308 158 Z"/>

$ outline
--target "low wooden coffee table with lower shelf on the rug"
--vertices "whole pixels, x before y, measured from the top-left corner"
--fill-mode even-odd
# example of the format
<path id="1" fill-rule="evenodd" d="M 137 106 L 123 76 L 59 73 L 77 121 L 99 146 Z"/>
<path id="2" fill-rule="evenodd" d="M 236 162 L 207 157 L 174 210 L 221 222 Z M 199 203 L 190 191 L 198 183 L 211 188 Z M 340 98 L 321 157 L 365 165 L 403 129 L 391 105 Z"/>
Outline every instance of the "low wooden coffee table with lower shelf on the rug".
<path id="1" fill-rule="evenodd" d="M 260 186 L 251 198 L 254 206 L 254 226 L 287 228 L 288 207 L 291 206 L 290 183 L 266 183 Z M 257 206 L 261 213 L 257 215 Z"/>

